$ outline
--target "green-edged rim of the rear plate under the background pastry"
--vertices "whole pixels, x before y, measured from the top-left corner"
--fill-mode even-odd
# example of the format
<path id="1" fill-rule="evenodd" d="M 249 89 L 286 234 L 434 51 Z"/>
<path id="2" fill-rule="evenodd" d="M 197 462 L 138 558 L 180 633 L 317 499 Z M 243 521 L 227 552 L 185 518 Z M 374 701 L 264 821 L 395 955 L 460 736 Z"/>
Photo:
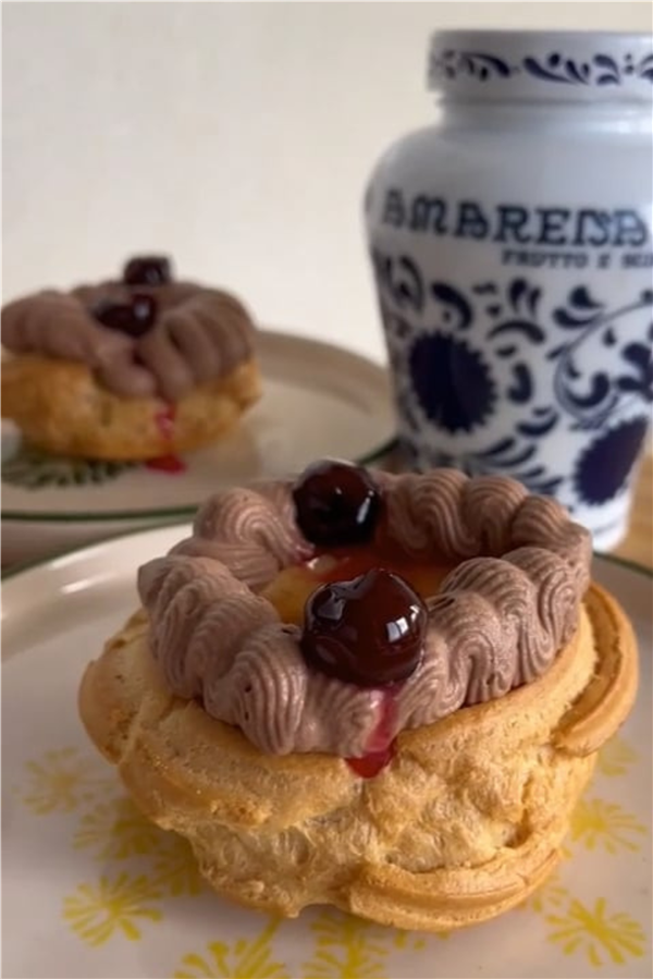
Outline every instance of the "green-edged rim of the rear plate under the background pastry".
<path id="1" fill-rule="evenodd" d="M 316 352 L 317 356 L 319 356 L 320 350 L 330 352 L 335 351 L 336 353 L 344 354 L 346 355 L 347 359 L 357 362 L 360 368 L 366 370 L 369 370 L 370 368 L 377 370 L 379 372 L 380 379 L 381 377 L 385 377 L 389 387 L 389 395 L 391 394 L 391 383 L 387 367 L 379 364 L 371 357 L 365 356 L 365 354 L 361 354 L 358 351 L 349 350 L 348 347 L 342 346 L 338 343 L 329 343 L 328 341 L 319 340 L 313 336 L 304 336 L 300 333 L 289 333 L 285 330 L 276 330 L 272 327 L 263 327 L 260 329 L 259 333 L 261 336 L 261 344 L 264 344 L 267 342 L 289 342 L 299 344 L 304 347 L 312 348 Z M 390 408 L 392 414 L 392 402 L 390 404 Z M 355 456 L 353 458 L 353 462 L 361 466 L 371 465 L 378 462 L 380 458 L 383 458 L 383 456 L 389 455 L 396 448 L 397 441 L 398 440 L 395 432 L 389 433 L 382 442 L 378 442 L 375 445 L 370 446 L 370 449 L 361 455 Z M 2 493 L 0 491 L 0 522 L 5 521 L 8 523 L 13 522 L 29 524 L 102 524 L 111 523 L 113 521 L 147 519 L 162 521 L 165 523 L 175 519 L 178 519 L 181 522 L 184 517 L 193 516 L 197 507 L 201 504 L 201 501 L 198 501 L 195 504 L 185 503 L 178 506 L 159 506 L 147 510 L 102 510 L 96 513 L 94 513 L 93 511 L 84 510 L 77 510 L 71 513 L 61 513 L 53 510 L 30 513 L 25 510 L 5 510 L 2 506 L 1 495 Z M 0 575 L 0 579 L 3 577 L 4 575 Z"/>

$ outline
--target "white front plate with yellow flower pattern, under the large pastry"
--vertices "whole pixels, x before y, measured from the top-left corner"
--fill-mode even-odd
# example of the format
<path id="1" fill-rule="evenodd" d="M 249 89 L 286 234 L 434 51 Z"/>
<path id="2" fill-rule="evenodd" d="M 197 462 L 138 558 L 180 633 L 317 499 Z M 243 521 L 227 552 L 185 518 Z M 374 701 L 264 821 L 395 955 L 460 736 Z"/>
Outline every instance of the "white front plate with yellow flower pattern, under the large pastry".
<path id="1" fill-rule="evenodd" d="M 81 673 L 134 609 L 136 565 L 186 533 L 108 541 L 3 583 L 2 976 L 650 979 L 649 577 L 596 561 L 638 632 L 640 694 L 602 751 L 569 859 L 525 907 L 448 937 L 323 908 L 279 921 L 209 892 L 185 845 L 125 800 L 77 720 Z"/>

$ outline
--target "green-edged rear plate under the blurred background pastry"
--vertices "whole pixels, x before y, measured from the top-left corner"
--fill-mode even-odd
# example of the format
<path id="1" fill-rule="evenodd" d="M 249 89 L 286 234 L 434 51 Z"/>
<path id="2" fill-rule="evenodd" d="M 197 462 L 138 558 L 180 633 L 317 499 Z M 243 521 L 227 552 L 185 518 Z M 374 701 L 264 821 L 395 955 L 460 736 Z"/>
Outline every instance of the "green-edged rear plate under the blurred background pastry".
<path id="1" fill-rule="evenodd" d="M 341 347 L 271 330 L 259 333 L 258 354 L 261 401 L 226 439 L 187 455 L 180 474 L 54 465 L 38 457 L 16 467 L 7 460 L 20 439 L 3 423 L 4 563 L 189 515 L 221 485 L 285 475 L 322 456 L 371 462 L 387 451 L 394 418 L 382 367 Z"/>

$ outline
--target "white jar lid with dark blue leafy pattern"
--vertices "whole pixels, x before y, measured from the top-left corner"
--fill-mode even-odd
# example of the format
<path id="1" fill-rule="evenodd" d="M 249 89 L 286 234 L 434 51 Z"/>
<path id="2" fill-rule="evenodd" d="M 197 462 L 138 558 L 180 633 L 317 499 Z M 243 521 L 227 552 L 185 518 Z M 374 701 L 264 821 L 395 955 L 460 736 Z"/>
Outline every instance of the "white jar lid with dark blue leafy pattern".
<path id="1" fill-rule="evenodd" d="M 447 99 L 653 100 L 653 35 L 438 30 L 429 88 Z"/>

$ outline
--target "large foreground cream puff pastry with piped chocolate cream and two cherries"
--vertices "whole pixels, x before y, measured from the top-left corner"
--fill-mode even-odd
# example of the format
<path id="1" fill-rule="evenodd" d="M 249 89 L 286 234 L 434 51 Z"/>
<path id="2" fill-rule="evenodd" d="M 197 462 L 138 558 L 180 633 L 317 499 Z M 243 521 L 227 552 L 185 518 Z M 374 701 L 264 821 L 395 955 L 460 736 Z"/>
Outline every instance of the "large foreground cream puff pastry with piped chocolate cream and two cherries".
<path id="1" fill-rule="evenodd" d="M 590 559 L 510 479 L 316 463 L 219 493 L 139 568 L 81 715 L 220 893 L 471 925 L 554 868 L 636 695 Z"/>

